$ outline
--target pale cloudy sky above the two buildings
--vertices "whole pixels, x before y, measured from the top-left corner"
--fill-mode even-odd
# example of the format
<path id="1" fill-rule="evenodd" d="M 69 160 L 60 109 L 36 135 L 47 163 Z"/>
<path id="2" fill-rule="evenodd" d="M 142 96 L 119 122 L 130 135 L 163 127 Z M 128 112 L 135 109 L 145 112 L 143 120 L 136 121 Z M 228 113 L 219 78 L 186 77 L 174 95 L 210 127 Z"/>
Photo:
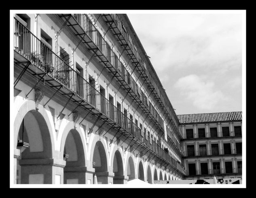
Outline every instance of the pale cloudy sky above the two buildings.
<path id="1" fill-rule="evenodd" d="M 242 111 L 242 14 L 127 14 L 177 115 Z"/>

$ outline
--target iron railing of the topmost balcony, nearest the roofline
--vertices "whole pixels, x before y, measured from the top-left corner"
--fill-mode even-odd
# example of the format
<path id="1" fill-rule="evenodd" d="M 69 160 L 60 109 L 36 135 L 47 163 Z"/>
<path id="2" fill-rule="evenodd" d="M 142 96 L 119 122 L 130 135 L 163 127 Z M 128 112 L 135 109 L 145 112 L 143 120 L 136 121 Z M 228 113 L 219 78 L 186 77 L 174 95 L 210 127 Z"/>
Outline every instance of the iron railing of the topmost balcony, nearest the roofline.
<path id="1" fill-rule="evenodd" d="M 106 16 L 106 14 L 102 14 L 103 16 Z M 151 76 L 151 74 L 148 72 L 148 70 L 146 70 L 146 68 L 144 68 L 144 61 L 142 60 L 140 54 L 137 52 L 137 50 L 135 49 L 135 47 L 133 47 L 133 45 L 131 44 L 132 41 L 130 42 L 130 37 L 127 33 L 127 31 L 125 30 L 125 27 L 123 25 L 123 23 L 121 22 L 121 20 L 119 19 L 118 15 L 117 14 L 109 14 L 109 16 L 111 17 L 111 19 L 114 21 L 116 27 L 118 28 L 118 30 L 121 32 L 121 34 L 123 35 L 124 39 L 122 40 L 125 40 L 125 44 L 126 45 L 129 45 L 131 51 L 133 52 L 133 55 L 134 57 L 137 59 L 138 63 L 140 64 L 139 66 L 142 68 L 142 70 L 144 71 L 144 74 L 146 75 L 145 78 L 149 80 L 150 84 L 152 85 L 152 87 L 154 87 L 155 91 L 157 92 L 157 94 L 155 94 L 155 97 L 159 97 L 157 99 L 160 99 L 159 100 L 159 103 L 160 103 L 160 106 L 163 108 L 164 111 L 167 111 L 169 113 L 169 119 L 170 121 L 172 121 L 173 124 L 172 126 L 176 129 L 177 131 L 177 134 L 180 136 L 180 138 L 182 138 L 181 136 L 181 132 L 179 130 L 179 128 L 177 128 L 178 126 L 178 118 L 173 118 L 173 115 L 172 113 L 170 113 L 170 110 L 169 110 L 169 107 L 164 104 L 164 100 L 163 100 L 163 96 L 161 95 L 158 87 L 157 87 L 157 84 L 154 82 L 154 78 Z M 110 22 L 109 22 L 110 23 Z M 132 56 L 131 56 L 132 57 Z M 137 65 L 135 66 L 137 67 Z M 141 71 L 141 70 L 140 70 Z M 148 84 L 148 86 L 150 85 Z M 153 90 L 154 91 L 154 90 Z M 167 106 L 167 108 L 165 107 Z M 172 108 L 172 107 L 171 107 Z M 173 113 L 176 115 L 176 113 L 173 111 Z"/>

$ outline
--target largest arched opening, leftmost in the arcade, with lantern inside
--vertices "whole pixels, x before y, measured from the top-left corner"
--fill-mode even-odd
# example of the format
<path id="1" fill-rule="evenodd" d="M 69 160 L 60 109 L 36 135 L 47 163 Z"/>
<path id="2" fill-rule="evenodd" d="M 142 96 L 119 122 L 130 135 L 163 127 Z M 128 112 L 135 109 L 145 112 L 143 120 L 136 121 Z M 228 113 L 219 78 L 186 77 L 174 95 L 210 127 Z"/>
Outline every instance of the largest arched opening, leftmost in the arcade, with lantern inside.
<path id="1" fill-rule="evenodd" d="M 47 123 L 36 110 L 25 114 L 17 138 L 17 184 L 52 184 L 51 137 Z M 48 163 L 47 163 L 48 162 Z"/>

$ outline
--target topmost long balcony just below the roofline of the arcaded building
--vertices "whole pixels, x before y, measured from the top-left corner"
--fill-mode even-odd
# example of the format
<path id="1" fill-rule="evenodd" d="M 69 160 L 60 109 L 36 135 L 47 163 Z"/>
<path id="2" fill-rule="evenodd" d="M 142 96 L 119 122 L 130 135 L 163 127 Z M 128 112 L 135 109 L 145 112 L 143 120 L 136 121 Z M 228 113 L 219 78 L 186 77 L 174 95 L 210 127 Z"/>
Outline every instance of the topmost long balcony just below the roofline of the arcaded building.
<path id="1" fill-rule="evenodd" d="M 135 47 L 130 42 L 130 37 L 128 33 L 125 31 L 124 25 L 119 19 L 117 14 L 101 14 L 102 19 L 109 25 L 109 29 L 112 31 L 113 35 L 116 37 L 117 41 L 124 48 L 127 56 L 132 60 L 132 64 L 134 68 L 137 69 L 140 76 L 146 82 L 150 92 L 154 95 L 160 107 L 163 109 L 164 114 L 167 115 L 167 118 L 171 122 L 171 126 L 176 130 L 178 136 L 182 139 L 181 132 L 178 128 L 178 119 L 173 118 L 173 115 L 169 113 L 169 110 L 165 107 L 166 105 L 163 103 L 163 97 L 160 97 L 160 91 L 154 82 L 154 78 L 151 74 L 144 68 L 144 62 L 136 51 Z M 172 108 L 172 107 L 171 107 Z M 171 109 L 171 111 L 175 114 L 175 112 Z M 176 114 L 175 114 L 176 115 Z"/>

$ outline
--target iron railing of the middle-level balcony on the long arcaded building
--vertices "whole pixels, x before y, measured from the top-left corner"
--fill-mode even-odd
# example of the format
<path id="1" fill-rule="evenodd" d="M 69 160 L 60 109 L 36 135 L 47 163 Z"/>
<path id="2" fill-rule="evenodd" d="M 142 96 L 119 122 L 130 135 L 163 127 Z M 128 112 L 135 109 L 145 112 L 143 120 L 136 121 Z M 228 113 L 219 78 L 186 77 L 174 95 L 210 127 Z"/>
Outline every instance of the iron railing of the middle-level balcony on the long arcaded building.
<path id="1" fill-rule="evenodd" d="M 152 114 L 153 110 L 148 109 L 147 99 L 144 93 L 141 91 L 138 91 L 138 85 L 136 84 L 135 80 L 131 77 L 131 74 L 127 71 L 125 66 L 122 64 L 122 62 L 119 60 L 119 58 L 116 56 L 116 54 L 111 50 L 108 43 L 105 41 L 105 39 L 102 37 L 102 35 L 99 33 L 97 28 L 93 25 L 91 20 L 86 14 L 72 14 L 74 19 L 76 19 L 77 23 L 80 25 L 80 27 L 83 28 L 85 33 L 90 37 L 90 39 L 95 43 L 95 45 L 98 47 L 98 49 L 102 52 L 102 54 L 106 57 L 106 59 L 110 62 L 111 66 L 115 68 L 115 70 L 122 76 L 123 80 L 127 83 L 127 85 L 131 88 L 131 90 L 135 93 L 135 95 L 138 96 L 140 101 L 144 104 L 145 108 L 142 108 L 143 111 L 147 109 L 149 113 Z M 141 93 L 141 94 L 139 94 Z M 155 110 L 155 109 L 154 109 Z M 152 116 L 154 119 L 158 122 L 154 122 L 154 119 L 151 117 L 148 117 L 151 121 L 154 122 L 154 124 L 157 124 L 161 126 L 161 132 L 164 133 L 164 125 L 163 120 L 155 110 L 153 111 Z M 159 127 L 158 126 L 158 127 Z M 174 141 L 174 140 L 173 140 Z M 181 152 L 183 155 L 183 151 L 181 150 L 181 146 L 178 143 L 174 143 L 176 146 L 176 149 L 178 152 Z"/>

